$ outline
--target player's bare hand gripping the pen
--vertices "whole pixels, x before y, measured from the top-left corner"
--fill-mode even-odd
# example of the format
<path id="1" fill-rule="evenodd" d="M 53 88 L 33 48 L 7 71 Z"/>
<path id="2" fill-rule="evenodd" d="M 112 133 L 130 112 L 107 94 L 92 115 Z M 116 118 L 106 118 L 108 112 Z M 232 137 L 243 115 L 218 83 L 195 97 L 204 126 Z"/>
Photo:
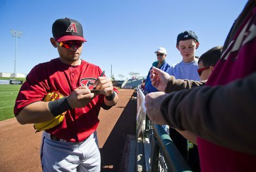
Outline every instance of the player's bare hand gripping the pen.
<path id="1" fill-rule="evenodd" d="M 93 84 L 96 90 L 105 90 L 108 95 L 112 95 L 114 92 L 113 84 L 106 76 L 100 76 Z"/>

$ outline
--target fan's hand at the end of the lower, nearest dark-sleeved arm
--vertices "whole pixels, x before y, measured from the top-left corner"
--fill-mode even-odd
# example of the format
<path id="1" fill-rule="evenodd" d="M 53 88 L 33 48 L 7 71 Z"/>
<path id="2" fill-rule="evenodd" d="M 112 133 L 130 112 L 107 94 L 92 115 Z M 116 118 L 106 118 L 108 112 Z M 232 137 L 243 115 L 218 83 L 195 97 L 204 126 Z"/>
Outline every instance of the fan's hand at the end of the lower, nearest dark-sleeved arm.
<path id="1" fill-rule="evenodd" d="M 155 124 L 168 124 L 164 116 L 162 116 L 160 107 L 168 94 L 164 92 L 151 92 L 145 97 L 146 114 Z"/>

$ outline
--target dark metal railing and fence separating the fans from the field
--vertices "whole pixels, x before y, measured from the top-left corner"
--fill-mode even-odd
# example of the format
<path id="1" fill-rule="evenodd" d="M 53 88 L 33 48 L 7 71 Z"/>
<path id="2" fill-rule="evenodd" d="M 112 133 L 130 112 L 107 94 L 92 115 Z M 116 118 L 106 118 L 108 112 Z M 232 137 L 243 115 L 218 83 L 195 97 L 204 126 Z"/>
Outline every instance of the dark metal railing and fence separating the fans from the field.
<path id="1" fill-rule="evenodd" d="M 139 140 L 143 143 L 143 171 L 192 171 L 164 127 L 150 123 L 144 102 L 145 95 L 138 87 L 136 139 L 137 143 Z"/>

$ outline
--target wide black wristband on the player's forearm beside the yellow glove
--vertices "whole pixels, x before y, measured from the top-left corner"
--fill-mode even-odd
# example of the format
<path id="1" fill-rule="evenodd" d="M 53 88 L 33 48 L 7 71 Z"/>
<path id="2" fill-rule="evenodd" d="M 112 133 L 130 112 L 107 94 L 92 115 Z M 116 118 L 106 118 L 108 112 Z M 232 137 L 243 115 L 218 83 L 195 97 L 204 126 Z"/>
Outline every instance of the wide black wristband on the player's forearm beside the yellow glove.
<path id="1" fill-rule="evenodd" d="M 59 114 L 72 109 L 68 103 L 68 97 L 59 98 L 55 101 L 49 102 L 48 108 L 50 109 L 53 116 L 58 116 Z"/>

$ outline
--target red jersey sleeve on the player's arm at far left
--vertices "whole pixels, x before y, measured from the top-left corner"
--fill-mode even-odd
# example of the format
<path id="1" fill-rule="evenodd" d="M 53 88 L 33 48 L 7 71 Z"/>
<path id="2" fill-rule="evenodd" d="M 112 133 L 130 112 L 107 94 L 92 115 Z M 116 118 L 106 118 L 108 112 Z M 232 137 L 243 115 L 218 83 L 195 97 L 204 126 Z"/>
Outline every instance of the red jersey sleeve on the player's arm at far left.
<path id="1" fill-rule="evenodd" d="M 21 86 L 14 106 L 14 115 L 17 116 L 24 107 L 31 103 L 42 101 L 49 90 L 46 72 L 42 64 L 36 65 L 26 77 Z"/>

